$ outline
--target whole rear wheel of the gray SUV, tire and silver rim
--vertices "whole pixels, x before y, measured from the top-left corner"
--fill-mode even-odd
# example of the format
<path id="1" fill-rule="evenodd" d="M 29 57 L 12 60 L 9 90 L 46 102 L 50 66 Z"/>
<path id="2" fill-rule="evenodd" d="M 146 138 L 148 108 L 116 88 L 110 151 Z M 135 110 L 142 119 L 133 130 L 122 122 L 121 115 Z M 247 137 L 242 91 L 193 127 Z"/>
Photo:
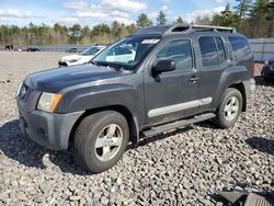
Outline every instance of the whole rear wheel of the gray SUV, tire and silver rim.
<path id="1" fill-rule="evenodd" d="M 215 123 L 221 128 L 233 126 L 242 111 L 241 92 L 229 88 L 222 95 L 222 100 L 216 111 Z"/>

